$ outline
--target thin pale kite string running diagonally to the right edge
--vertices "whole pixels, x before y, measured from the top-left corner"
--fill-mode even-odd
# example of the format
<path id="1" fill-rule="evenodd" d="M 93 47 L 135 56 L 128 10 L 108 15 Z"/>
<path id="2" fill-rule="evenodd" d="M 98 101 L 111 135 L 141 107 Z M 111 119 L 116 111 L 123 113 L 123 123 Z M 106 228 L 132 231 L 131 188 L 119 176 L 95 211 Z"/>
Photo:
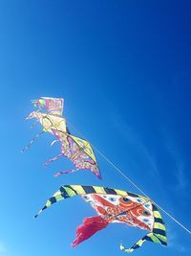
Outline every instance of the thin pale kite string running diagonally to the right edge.
<path id="1" fill-rule="evenodd" d="M 68 122 L 68 123 L 69 123 L 69 122 Z M 69 124 L 70 124 L 70 126 L 71 126 L 72 128 L 74 128 L 74 126 L 73 126 L 71 123 L 69 123 Z M 78 131 L 76 128 L 74 128 L 74 130 L 75 130 L 80 136 L 84 137 L 84 135 L 83 135 L 80 131 Z M 85 137 L 84 137 L 84 138 L 85 138 Z M 86 138 L 85 138 L 85 139 L 86 139 Z M 114 169 L 117 170 L 117 172 L 118 172 L 120 175 L 122 175 L 122 176 L 123 176 L 126 180 L 128 180 L 134 187 L 136 187 L 140 193 L 142 193 L 146 198 L 150 198 L 148 195 L 146 195 L 146 194 L 138 187 L 138 185 L 137 185 L 130 177 L 128 177 L 128 176 L 125 175 L 120 169 L 118 169 L 117 166 L 116 166 L 115 164 L 113 164 L 113 163 L 110 161 L 110 159 L 108 159 L 101 151 L 97 150 L 96 147 L 95 147 L 93 144 L 92 144 L 92 146 L 93 146 L 93 148 L 94 148 L 111 166 L 114 167 Z M 173 221 L 175 221 L 176 223 L 178 223 L 185 231 L 187 231 L 187 232 L 191 235 L 191 231 L 190 231 L 188 228 L 186 228 L 182 223 L 180 223 L 180 221 L 178 221 L 178 220 L 175 219 L 172 215 L 170 215 L 168 212 L 166 212 L 162 207 L 159 206 L 159 204 L 158 204 L 156 201 L 153 200 L 153 202 L 154 202 L 154 203 L 159 207 L 159 209 L 160 209 L 163 213 L 165 213 L 171 220 L 173 220 Z"/>

